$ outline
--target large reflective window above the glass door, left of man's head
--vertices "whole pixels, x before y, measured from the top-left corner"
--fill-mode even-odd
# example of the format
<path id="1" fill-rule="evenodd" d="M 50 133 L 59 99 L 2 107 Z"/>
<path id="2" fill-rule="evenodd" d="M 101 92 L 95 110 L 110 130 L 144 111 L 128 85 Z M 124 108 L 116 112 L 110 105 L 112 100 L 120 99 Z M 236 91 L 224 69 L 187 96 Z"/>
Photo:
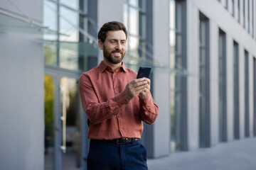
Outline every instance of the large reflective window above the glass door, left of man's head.
<path id="1" fill-rule="evenodd" d="M 90 58 L 97 61 L 97 38 L 91 34 L 97 24 L 92 24 L 94 18 L 88 21 L 88 14 L 86 0 L 44 1 L 43 22 L 49 27 L 43 36 L 46 65 L 86 70 L 92 64 Z"/>

